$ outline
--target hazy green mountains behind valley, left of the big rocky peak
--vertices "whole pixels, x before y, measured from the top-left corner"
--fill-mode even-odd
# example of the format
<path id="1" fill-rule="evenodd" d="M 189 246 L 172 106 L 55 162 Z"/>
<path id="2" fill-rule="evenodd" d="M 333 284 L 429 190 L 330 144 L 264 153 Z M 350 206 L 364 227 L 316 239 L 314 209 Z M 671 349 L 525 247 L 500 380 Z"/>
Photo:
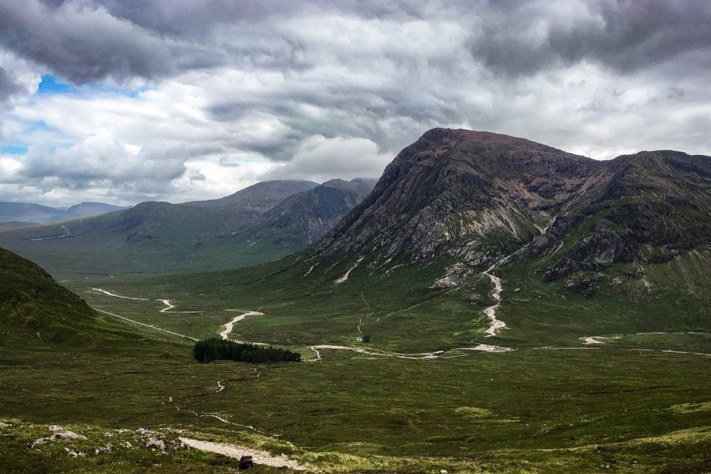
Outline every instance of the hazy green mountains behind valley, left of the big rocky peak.
<path id="1" fill-rule="evenodd" d="M 316 241 L 374 185 L 368 179 L 264 181 L 221 199 L 144 202 L 100 216 L 2 231 L 0 246 L 53 273 L 255 265 Z"/>

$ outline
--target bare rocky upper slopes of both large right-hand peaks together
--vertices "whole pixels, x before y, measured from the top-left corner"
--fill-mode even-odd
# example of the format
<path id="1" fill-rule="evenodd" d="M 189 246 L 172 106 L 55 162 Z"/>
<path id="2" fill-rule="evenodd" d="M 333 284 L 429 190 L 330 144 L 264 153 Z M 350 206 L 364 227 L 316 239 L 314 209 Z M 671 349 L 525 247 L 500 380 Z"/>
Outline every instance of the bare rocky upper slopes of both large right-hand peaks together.
<path id="1" fill-rule="evenodd" d="M 710 214 L 710 157 L 662 151 L 599 162 L 526 139 L 434 129 L 311 251 L 365 258 L 370 268 L 437 259 L 443 274 L 432 288 L 460 285 L 515 253 L 510 261 L 551 261 L 543 279 L 552 281 L 710 243 Z M 570 281 L 574 290 L 597 279 Z"/>

